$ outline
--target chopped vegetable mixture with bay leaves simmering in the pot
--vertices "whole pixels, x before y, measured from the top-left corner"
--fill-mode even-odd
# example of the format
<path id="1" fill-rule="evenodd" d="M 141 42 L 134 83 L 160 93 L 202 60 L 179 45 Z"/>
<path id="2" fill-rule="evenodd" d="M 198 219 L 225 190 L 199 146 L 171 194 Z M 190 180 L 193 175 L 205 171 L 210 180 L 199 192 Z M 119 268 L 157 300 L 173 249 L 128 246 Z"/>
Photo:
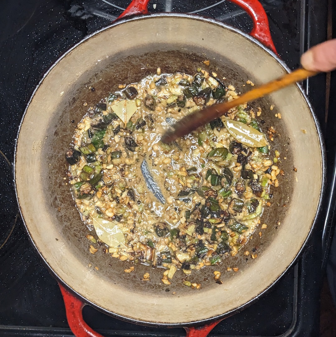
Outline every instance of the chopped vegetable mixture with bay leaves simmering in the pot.
<path id="1" fill-rule="evenodd" d="M 66 153 L 87 238 L 122 261 L 166 267 L 169 278 L 237 254 L 280 173 L 249 105 L 176 142 L 160 141 L 182 116 L 237 97 L 217 74 L 199 70 L 158 69 L 119 86 L 88 109 Z"/>

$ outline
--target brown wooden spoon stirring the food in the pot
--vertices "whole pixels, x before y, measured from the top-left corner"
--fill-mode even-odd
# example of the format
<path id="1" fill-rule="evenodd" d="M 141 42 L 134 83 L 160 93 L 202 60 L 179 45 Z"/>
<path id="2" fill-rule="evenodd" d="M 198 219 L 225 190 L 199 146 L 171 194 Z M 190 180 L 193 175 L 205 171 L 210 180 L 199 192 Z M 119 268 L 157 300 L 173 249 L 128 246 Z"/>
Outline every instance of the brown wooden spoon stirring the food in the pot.
<path id="1" fill-rule="evenodd" d="M 185 134 L 188 134 L 191 131 L 197 129 L 199 126 L 211 122 L 212 120 L 225 114 L 228 110 L 234 108 L 239 104 L 253 101 L 273 91 L 279 90 L 293 83 L 300 82 L 307 77 L 314 76 L 317 73 L 318 72 L 316 71 L 299 68 L 274 81 L 268 82 L 258 88 L 252 89 L 247 93 L 239 96 L 237 99 L 232 99 L 231 101 L 224 103 L 213 104 L 208 106 L 207 108 L 191 113 L 176 122 L 172 127 L 170 127 L 162 136 L 161 141 L 163 143 L 172 142 L 176 138 L 182 137 Z"/>

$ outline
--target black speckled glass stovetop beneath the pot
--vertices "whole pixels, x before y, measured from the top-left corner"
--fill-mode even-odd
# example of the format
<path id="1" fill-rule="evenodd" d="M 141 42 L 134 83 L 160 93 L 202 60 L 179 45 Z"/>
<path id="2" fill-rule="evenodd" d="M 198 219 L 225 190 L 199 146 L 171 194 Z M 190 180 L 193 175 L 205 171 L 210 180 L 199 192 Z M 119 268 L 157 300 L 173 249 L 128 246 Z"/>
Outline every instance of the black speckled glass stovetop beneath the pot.
<path id="1" fill-rule="evenodd" d="M 275 47 L 290 68 L 300 54 L 326 39 L 327 0 L 263 0 Z M 0 28 L 0 336 L 73 336 L 57 281 L 34 251 L 23 229 L 13 191 L 17 125 L 41 75 L 85 35 L 108 25 L 122 12 L 122 0 L 13 0 L 2 2 Z M 150 1 L 150 12 L 196 12 L 250 31 L 252 21 L 229 1 Z M 326 77 L 304 83 L 322 129 L 328 156 L 328 190 L 334 170 L 333 129 L 326 119 Z M 336 88 L 335 88 L 336 89 Z M 29 175 L 29 173 L 27 173 Z M 328 201 L 328 198 L 326 199 Z M 317 336 L 323 256 L 331 221 L 323 216 L 297 264 L 249 308 L 223 320 L 210 336 Z M 322 242 L 322 244 L 321 244 Z M 197 308 L 195 308 L 196 310 Z M 183 336 L 182 328 L 125 323 L 86 306 L 87 323 L 104 336 Z"/>

